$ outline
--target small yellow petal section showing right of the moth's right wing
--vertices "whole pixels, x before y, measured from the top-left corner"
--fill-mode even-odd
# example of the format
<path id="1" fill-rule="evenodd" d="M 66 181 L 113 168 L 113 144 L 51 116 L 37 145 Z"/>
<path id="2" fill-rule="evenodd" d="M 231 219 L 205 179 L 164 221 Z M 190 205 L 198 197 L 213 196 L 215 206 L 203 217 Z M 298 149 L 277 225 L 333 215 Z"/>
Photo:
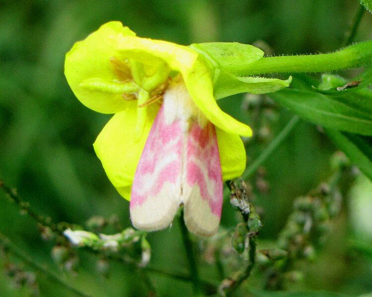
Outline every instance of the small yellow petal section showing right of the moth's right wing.
<path id="1" fill-rule="evenodd" d="M 242 139 L 237 134 L 229 134 L 216 127 L 218 149 L 223 181 L 242 175 L 246 169 L 246 150 Z"/>

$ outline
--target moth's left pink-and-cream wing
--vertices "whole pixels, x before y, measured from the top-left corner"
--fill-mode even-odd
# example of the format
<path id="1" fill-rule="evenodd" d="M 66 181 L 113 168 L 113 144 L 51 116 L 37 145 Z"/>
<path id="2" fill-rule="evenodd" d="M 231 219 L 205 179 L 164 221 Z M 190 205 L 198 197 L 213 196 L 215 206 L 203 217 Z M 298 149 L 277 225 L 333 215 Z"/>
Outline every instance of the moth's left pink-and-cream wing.
<path id="1" fill-rule="evenodd" d="M 161 107 L 134 175 L 130 218 L 134 227 L 168 227 L 180 205 L 184 132 L 179 120 L 167 124 Z"/>

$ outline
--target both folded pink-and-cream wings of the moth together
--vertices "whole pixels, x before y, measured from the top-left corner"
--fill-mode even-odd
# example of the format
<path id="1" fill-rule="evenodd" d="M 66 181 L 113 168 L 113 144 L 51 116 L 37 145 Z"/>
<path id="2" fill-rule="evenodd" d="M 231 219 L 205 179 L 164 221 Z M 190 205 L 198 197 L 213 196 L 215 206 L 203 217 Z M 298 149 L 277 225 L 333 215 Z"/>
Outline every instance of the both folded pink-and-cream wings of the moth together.
<path id="1" fill-rule="evenodd" d="M 223 184 L 214 125 L 165 120 L 163 106 L 151 128 L 134 175 L 130 217 L 134 227 L 168 227 L 181 203 L 188 230 L 212 236 L 219 226 Z"/>

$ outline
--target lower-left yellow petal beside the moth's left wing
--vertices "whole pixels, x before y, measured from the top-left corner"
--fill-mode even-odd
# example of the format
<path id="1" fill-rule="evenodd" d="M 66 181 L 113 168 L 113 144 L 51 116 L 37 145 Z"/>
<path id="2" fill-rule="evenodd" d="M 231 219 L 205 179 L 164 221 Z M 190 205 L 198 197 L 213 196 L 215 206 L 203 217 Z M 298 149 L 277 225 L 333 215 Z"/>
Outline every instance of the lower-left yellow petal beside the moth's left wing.
<path id="1" fill-rule="evenodd" d="M 135 169 L 151 125 L 159 110 L 158 104 L 151 104 L 146 107 L 148 108 L 148 120 L 145 123 L 141 138 L 136 141 L 136 102 L 131 101 L 128 104 L 133 104 L 134 106 L 130 106 L 126 110 L 115 114 L 98 135 L 93 145 L 107 176 L 117 189 L 132 184 Z M 119 191 L 119 193 L 125 192 Z M 124 198 L 127 197 L 124 196 Z"/>

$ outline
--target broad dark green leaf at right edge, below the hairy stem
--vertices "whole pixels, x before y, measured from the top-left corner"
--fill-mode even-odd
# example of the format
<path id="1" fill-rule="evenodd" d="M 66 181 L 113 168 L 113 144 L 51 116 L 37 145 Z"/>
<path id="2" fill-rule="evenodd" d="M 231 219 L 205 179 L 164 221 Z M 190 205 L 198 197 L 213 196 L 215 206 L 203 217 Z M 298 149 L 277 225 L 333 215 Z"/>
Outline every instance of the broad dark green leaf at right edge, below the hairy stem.
<path id="1" fill-rule="evenodd" d="M 372 114 L 314 91 L 284 89 L 270 95 L 308 121 L 341 131 L 372 135 Z"/>

